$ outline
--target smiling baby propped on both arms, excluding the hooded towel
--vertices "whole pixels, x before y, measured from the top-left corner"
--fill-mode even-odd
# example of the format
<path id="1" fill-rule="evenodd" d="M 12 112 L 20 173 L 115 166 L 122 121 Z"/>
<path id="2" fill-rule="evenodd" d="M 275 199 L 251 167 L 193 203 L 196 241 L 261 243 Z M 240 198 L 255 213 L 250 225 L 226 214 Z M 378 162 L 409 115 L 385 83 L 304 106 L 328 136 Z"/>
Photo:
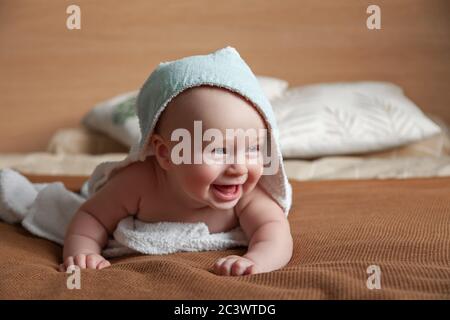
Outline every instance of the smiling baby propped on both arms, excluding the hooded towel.
<path id="1" fill-rule="evenodd" d="M 217 129 L 226 138 L 209 142 L 208 148 L 203 142 L 201 163 L 179 163 L 172 134 L 187 130 L 194 146 L 194 121 L 201 121 L 203 132 Z M 258 184 L 266 141 L 256 136 L 242 145 L 238 135 L 230 139 L 226 134 L 227 129 L 266 128 L 255 107 L 230 90 L 202 85 L 178 94 L 149 139 L 154 154 L 117 171 L 78 209 L 66 232 L 60 270 L 70 265 L 110 266 L 101 256 L 102 248 L 119 221 L 129 216 L 144 222 L 204 222 L 211 233 L 240 225 L 249 240 L 247 253 L 218 259 L 213 266 L 218 275 L 256 274 L 285 266 L 293 251 L 289 223 Z M 192 147 L 192 155 L 195 152 Z M 231 154 L 234 161 L 225 161 Z"/>

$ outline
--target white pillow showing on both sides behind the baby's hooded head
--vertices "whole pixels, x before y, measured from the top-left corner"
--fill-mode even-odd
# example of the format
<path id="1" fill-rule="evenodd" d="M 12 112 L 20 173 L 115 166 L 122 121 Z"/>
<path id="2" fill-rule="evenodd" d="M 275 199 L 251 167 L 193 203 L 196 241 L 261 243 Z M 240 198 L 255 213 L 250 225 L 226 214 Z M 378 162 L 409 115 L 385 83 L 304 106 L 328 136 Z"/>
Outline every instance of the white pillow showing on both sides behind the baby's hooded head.
<path id="1" fill-rule="evenodd" d="M 288 87 L 288 82 L 281 79 L 266 76 L 257 79 L 269 100 L 280 97 Z M 126 92 L 95 105 L 83 117 L 82 124 L 131 147 L 141 137 L 135 112 L 138 93 L 138 90 Z"/>

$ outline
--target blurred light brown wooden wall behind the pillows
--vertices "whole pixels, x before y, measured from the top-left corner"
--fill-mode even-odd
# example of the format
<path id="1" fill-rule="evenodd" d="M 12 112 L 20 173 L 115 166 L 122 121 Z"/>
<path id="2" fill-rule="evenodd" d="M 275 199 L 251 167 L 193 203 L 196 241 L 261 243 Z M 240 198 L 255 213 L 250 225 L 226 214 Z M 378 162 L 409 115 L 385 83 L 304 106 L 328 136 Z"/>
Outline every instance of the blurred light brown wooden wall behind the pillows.
<path id="1" fill-rule="evenodd" d="M 81 30 L 66 8 L 81 7 Z M 366 8 L 381 7 L 381 30 Z M 447 0 L 1 0 L 0 152 L 44 150 L 164 60 L 227 45 L 291 85 L 383 80 L 450 123 Z"/>

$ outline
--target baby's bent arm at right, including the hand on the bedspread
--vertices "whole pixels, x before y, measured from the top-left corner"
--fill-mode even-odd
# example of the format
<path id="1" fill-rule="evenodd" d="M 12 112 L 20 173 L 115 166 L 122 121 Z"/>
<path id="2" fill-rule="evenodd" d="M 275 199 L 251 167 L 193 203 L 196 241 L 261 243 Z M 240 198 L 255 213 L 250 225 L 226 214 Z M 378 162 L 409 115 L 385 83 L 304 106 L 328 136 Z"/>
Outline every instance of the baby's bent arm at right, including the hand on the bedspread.
<path id="1" fill-rule="evenodd" d="M 255 196 L 237 208 L 240 225 L 250 239 L 242 257 L 219 259 L 214 271 L 221 275 L 270 272 L 284 267 L 292 257 L 293 241 L 289 222 L 278 204 L 259 187 Z"/>

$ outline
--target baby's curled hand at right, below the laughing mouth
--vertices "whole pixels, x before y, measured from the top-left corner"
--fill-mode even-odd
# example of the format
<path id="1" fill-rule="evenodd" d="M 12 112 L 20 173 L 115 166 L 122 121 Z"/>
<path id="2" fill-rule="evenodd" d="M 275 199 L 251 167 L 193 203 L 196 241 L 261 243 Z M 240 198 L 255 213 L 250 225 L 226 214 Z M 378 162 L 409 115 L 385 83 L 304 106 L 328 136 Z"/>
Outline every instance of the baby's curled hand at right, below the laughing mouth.
<path id="1" fill-rule="evenodd" d="M 214 273 L 222 276 L 241 276 L 260 272 L 255 262 L 236 255 L 220 258 L 214 264 Z"/>

